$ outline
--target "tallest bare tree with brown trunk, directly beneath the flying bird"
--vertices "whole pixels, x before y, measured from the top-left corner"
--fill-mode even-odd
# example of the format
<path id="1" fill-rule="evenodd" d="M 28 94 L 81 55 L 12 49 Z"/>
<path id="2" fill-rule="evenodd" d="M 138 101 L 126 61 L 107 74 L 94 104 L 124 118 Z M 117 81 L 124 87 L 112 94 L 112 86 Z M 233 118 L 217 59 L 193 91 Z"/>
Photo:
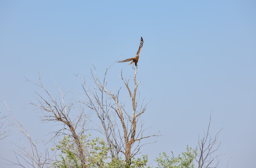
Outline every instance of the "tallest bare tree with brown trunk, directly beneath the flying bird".
<path id="1" fill-rule="evenodd" d="M 95 73 L 91 70 L 91 79 L 96 86 L 91 88 L 84 82 L 82 87 L 85 96 L 81 99 L 82 103 L 96 112 L 101 123 L 101 132 L 105 134 L 110 146 L 112 158 L 119 159 L 119 157 L 124 156 L 126 164 L 130 166 L 131 158 L 139 152 L 141 146 L 145 145 L 145 143 L 141 144 L 141 140 L 158 135 L 144 136 L 143 134 L 146 129 L 143 128 L 144 121 L 140 117 L 146 111 L 148 104 L 143 106 L 142 101 L 141 105 L 139 105 L 137 88 L 141 81 L 136 81 L 137 68 L 133 68 L 135 70 L 133 89 L 129 85 L 129 80 L 123 77 L 122 71 L 120 77 L 131 99 L 130 111 L 127 108 L 127 104 L 121 101 L 123 100 L 120 96 L 122 87 L 113 91 L 106 88 L 108 68 L 106 69 L 103 81 L 97 77 L 95 67 Z"/>

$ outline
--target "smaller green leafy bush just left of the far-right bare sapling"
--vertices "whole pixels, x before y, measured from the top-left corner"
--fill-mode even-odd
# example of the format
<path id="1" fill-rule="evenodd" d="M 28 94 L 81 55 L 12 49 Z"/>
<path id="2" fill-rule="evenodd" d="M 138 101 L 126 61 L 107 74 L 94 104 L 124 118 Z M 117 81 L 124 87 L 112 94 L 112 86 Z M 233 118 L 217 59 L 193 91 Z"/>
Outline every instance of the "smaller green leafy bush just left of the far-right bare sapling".
<path id="1" fill-rule="evenodd" d="M 172 152 L 172 157 L 168 157 L 165 152 L 159 154 L 159 158 L 156 158 L 155 161 L 158 162 L 158 168 L 194 168 L 193 160 L 196 157 L 196 149 L 186 147 L 186 152 L 182 152 L 175 157 Z"/>

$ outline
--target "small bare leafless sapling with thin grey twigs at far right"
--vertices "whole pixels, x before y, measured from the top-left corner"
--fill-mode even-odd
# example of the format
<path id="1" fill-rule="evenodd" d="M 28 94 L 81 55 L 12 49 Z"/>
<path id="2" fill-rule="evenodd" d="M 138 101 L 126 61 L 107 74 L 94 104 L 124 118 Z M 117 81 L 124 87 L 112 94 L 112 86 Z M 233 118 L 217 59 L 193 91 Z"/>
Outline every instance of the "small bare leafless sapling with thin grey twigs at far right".
<path id="1" fill-rule="evenodd" d="M 210 124 L 211 124 L 211 116 L 210 116 L 207 132 L 206 133 L 204 132 L 204 137 L 202 137 L 202 139 L 198 137 L 199 151 L 196 158 L 196 161 L 198 162 L 198 168 L 217 168 L 219 164 L 218 156 L 220 155 L 214 155 L 213 153 L 215 153 L 220 147 L 221 140 L 219 140 L 218 137 L 222 129 L 220 129 L 215 134 L 214 137 L 211 137 Z M 215 166 L 214 167 L 211 166 L 212 164 L 215 164 Z"/>

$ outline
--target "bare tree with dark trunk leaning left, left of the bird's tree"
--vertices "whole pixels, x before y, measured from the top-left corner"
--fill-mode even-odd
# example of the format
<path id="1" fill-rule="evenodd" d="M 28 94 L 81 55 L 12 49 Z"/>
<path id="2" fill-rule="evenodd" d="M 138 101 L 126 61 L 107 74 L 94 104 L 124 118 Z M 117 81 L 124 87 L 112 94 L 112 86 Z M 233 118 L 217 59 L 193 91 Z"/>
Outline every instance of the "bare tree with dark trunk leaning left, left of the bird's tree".
<path id="1" fill-rule="evenodd" d="M 27 81 L 29 80 L 27 79 Z M 29 82 L 34 83 L 32 81 Z M 77 108 L 75 106 L 75 101 L 71 99 L 69 103 L 65 103 L 65 96 L 68 92 L 63 92 L 58 87 L 58 85 L 56 86 L 58 87 L 60 96 L 59 99 L 54 99 L 54 97 L 47 91 L 47 89 L 42 84 L 40 80 L 40 75 L 39 84 L 34 84 L 42 88 L 47 95 L 47 98 L 45 98 L 36 92 L 36 94 L 38 95 L 38 103 L 31 103 L 42 111 L 42 121 L 54 121 L 59 122 L 62 125 L 62 128 L 58 129 L 55 132 L 55 136 L 52 137 L 52 139 L 59 137 L 60 135 L 71 135 L 72 139 L 74 139 L 75 146 L 78 151 L 76 157 L 79 158 L 81 167 L 86 168 L 86 157 L 83 149 L 83 144 L 80 141 L 80 137 L 85 131 L 84 128 L 88 116 L 85 115 L 83 109 L 79 109 L 79 114 L 76 115 L 74 119 L 70 117 L 70 112 L 76 111 L 75 109 Z"/>

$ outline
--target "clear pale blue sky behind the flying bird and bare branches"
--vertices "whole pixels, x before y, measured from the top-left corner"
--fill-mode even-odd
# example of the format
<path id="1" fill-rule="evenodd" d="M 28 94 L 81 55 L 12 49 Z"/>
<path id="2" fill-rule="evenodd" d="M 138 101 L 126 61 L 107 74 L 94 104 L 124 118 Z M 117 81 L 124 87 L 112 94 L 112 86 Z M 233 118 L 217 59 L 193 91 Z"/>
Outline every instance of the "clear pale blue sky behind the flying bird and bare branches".
<path id="1" fill-rule="evenodd" d="M 252 168 L 256 151 L 256 1 L 254 0 L 139 0 L 31 1 L 0 0 L 0 115 L 4 101 L 35 140 L 45 139 L 51 123 L 41 123 L 31 110 L 43 84 L 54 95 L 54 81 L 66 91 L 79 92 L 74 74 L 103 76 L 113 62 L 135 56 L 140 37 L 137 80 L 150 101 L 144 120 L 156 143 L 144 146 L 153 163 L 160 152 L 184 152 L 197 146 L 198 135 L 221 128 L 216 154 L 220 168 Z M 124 54 L 124 55 L 123 55 Z M 121 56 L 121 57 L 120 57 Z M 115 63 L 109 87 L 123 86 Z M 14 158 L 10 137 L 0 141 L 0 156 Z M 42 148 L 43 149 L 43 148 Z M 0 160 L 0 167 L 6 167 Z M 12 167 L 12 166 L 9 166 Z"/>

